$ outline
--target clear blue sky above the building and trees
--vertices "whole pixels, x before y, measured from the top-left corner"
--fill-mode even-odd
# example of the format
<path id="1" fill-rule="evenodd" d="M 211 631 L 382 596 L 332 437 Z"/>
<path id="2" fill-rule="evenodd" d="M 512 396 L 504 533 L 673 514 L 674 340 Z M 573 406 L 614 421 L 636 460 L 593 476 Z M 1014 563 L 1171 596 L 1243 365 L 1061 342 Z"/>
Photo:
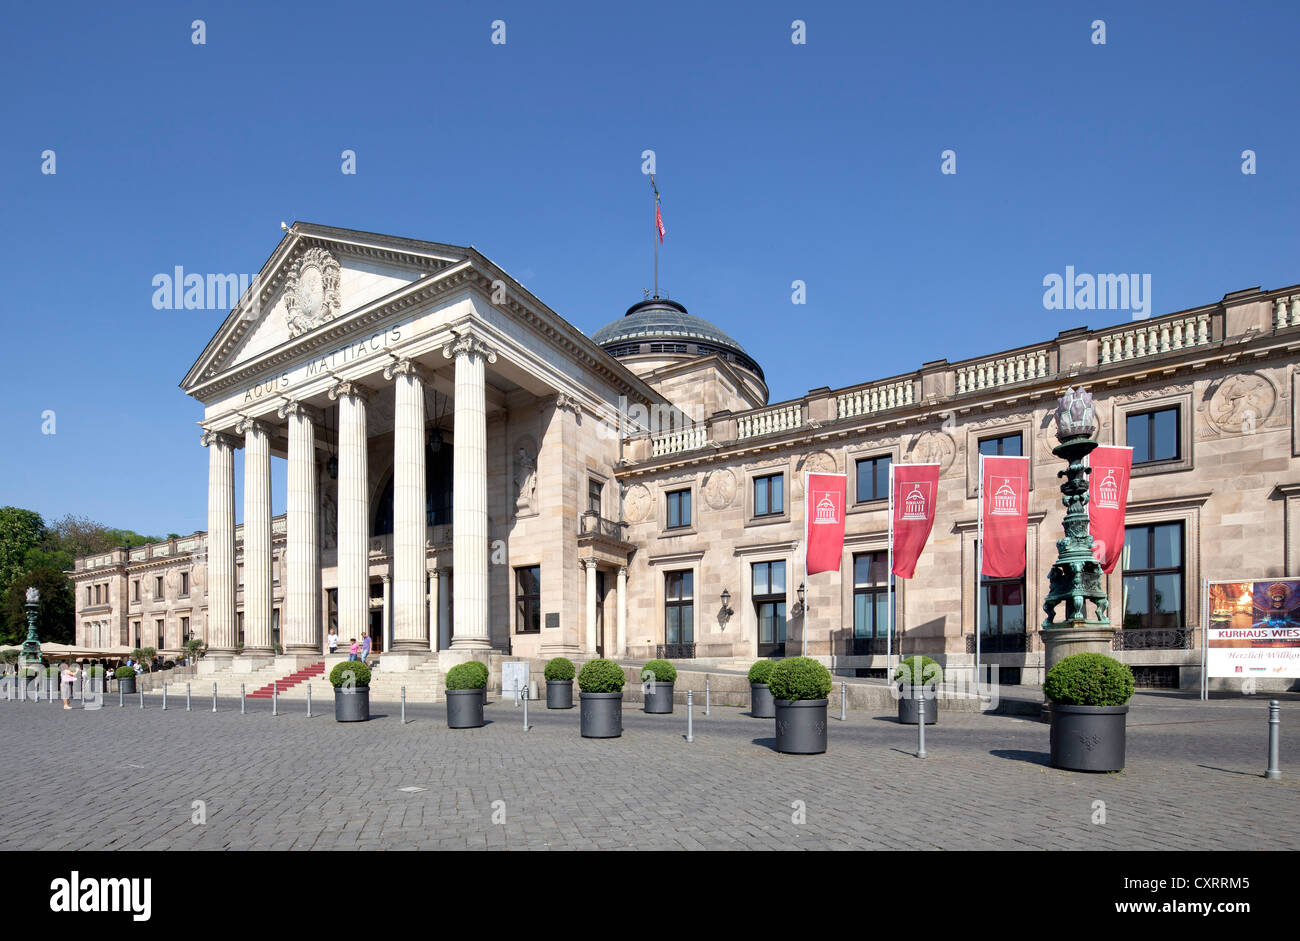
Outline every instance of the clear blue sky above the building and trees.
<path id="1" fill-rule="evenodd" d="M 224 312 L 151 279 L 281 220 L 474 244 L 594 331 L 650 286 L 647 148 L 662 287 L 774 400 L 1128 318 L 1044 309 L 1066 265 L 1153 313 L 1300 282 L 1294 3 L 282 6 L 3 14 L 0 504 L 205 528 L 178 382 Z"/>

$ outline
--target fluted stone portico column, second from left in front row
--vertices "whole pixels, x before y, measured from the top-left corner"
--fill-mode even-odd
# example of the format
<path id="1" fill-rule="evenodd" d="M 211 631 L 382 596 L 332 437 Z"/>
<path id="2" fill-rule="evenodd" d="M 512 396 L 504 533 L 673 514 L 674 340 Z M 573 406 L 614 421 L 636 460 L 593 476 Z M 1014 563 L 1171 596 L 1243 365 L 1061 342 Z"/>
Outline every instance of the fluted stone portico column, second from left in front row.
<path id="1" fill-rule="evenodd" d="M 244 437 L 244 654 L 270 654 L 270 435 L 240 419 Z"/>

